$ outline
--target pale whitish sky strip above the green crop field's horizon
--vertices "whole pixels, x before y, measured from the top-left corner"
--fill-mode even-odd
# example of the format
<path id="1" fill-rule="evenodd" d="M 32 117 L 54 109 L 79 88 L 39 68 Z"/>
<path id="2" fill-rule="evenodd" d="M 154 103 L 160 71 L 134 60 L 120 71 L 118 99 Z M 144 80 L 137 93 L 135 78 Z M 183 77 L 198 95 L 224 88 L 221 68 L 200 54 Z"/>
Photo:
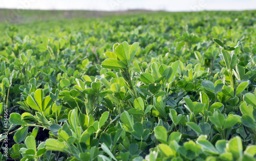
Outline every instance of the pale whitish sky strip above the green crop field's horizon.
<path id="1" fill-rule="evenodd" d="M 256 10 L 256 0 L 0 0 L 0 8 L 40 10 L 164 11 Z"/>

